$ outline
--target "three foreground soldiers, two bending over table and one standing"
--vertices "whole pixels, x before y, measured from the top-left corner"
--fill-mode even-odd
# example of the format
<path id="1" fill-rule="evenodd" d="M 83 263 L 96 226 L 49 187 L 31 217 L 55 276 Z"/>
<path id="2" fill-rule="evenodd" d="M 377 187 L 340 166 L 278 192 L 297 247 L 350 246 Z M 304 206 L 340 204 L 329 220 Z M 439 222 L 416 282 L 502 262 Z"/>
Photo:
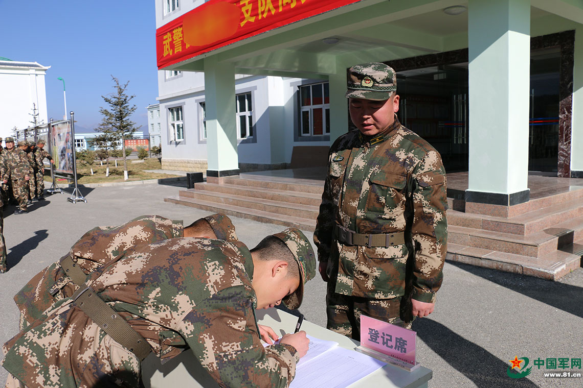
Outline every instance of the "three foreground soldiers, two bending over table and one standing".
<path id="1" fill-rule="evenodd" d="M 314 243 L 326 327 L 359 339 L 361 315 L 411 328 L 434 311 L 447 198 L 440 154 L 396 116 L 395 71 L 364 63 L 348 75 L 357 129 L 330 149 Z M 297 309 L 315 270 L 300 230 L 250 250 L 221 214 L 188 227 L 142 216 L 94 228 L 16 295 L 6 386 L 139 387 L 149 353 L 166 361 L 190 348 L 222 387 L 287 387 L 309 341 L 299 332 L 272 344 L 254 309 Z"/>

